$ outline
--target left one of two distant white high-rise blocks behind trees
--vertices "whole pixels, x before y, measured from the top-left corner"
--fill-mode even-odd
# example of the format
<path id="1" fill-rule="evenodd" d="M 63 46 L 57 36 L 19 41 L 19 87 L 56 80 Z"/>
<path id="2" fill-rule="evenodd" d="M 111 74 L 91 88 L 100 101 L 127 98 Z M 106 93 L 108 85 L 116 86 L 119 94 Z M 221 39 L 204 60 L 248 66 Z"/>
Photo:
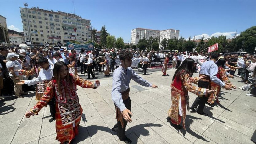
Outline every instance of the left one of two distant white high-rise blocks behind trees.
<path id="1" fill-rule="evenodd" d="M 147 40 L 149 37 L 158 38 L 159 39 L 160 30 L 150 30 L 150 29 L 143 29 L 143 28 L 136 28 L 131 30 L 131 44 L 136 45 L 140 39 L 146 38 Z"/>

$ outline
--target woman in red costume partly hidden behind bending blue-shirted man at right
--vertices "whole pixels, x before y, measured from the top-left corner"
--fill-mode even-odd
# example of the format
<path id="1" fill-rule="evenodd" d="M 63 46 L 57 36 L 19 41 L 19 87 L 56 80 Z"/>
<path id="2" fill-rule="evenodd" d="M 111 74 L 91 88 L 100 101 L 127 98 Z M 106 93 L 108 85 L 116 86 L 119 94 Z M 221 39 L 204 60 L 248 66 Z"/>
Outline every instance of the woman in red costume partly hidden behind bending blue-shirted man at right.
<path id="1" fill-rule="evenodd" d="M 223 58 L 220 58 L 218 61 L 217 61 L 217 66 L 218 66 L 218 73 L 217 73 L 217 77 L 223 81 L 225 84 L 233 87 L 233 88 L 236 88 L 235 85 L 233 85 L 230 80 L 228 79 L 228 76 L 226 74 L 226 71 L 225 71 L 225 64 L 226 64 L 226 60 L 223 59 Z M 209 104 L 213 104 L 214 101 L 215 101 L 215 97 L 216 97 L 216 102 L 219 103 L 219 100 L 218 100 L 218 96 L 220 94 L 220 85 L 217 85 L 216 83 L 212 82 L 211 81 L 211 90 L 216 90 L 216 92 L 212 93 L 209 98 L 208 98 L 208 103 Z"/>

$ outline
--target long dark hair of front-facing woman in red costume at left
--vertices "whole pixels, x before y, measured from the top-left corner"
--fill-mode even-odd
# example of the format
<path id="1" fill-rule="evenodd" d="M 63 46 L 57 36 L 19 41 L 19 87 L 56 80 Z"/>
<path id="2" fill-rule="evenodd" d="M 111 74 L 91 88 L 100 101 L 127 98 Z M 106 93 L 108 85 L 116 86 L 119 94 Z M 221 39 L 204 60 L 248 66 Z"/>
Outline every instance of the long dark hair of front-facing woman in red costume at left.
<path id="1" fill-rule="evenodd" d="M 60 78 L 60 69 L 63 66 L 65 66 L 65 67 L 67 67 L 67 69 L 69 69 L 68 65 L 66 63 L 62 62 L 62 61 L 59 61 L 59 62 L 55 63 L 54 64 L 54 68 L 53 68 L 53 78 L 52 79 L 56 80 L 59 92 L 61 92 L 61 84 L 62 84 L 61 78 Z M 72 85 L 72 78 L 70 76 L 69 70 L 68 70 L 68 73 L 67 73 L 67 76 L 66 76 L 66 80 L 69 80 L 69 84 L 70 84 L 70 87 L 71 87 L 71 85 Z"/>

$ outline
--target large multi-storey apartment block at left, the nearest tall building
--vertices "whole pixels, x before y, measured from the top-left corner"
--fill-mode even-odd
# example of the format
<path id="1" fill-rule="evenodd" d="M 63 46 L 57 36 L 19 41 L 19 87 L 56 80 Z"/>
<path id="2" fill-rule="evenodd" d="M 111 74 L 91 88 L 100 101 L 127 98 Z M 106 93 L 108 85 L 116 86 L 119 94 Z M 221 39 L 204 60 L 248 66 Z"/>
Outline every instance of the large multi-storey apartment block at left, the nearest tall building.
<path id="1" fill-rule="evenodd" d="M 91 39 L 91 22 L 80 16 L 61 11 L 20 8 L 23 31 L 26 40 L 42 46 L 44 42 L 55 45 L 75 40 L 81 44 Z"/>

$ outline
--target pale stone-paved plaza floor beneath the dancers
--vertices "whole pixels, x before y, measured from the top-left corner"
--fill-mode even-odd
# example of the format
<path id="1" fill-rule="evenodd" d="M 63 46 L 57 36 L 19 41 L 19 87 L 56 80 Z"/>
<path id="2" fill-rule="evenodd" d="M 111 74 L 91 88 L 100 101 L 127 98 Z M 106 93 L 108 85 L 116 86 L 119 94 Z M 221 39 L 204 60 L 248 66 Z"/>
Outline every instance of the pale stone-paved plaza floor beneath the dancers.
<path id="1" fill-rule="evenodd" d="M 253 143 L 250 139 L 256 129 L 256 97 L 246 96 L 248 91 L 222 89 L 220 104 L 206 105 L 208 116 L 187 112 L 186 130 L 177 130 L 166 120 L 171 105 L 170 83 L 176 69 L 168 69 L 162 76 L 160 69 L 149 69 L 142 75 L 158 89 L 144 87 L 133 80 L 130 83 L 132 122 L 126 135 L 133 143 Z M 195 73 L 194 76 L 198 76 Z M 85 77 L 83 77 L 85 78 Z M 115 125 L 115 108 L 111 100 L 112 77 L 99 79 L 100 87 L 86 89 L 78 86 L 78 96 L 83 108 L 79 135 L 73 143 L 123 143 L 111 131 Z M 235 77 L 232 83 L 244 85 Z M 36 104 L 35 93 L 24 98 L 0 99 L 0 143 L 59 143 L 55 140 L 55 121 L 49 123 L 49 106 L 38 115 L 25 118 L 24 114 Z M 189 93 L 190 105 L 196 95 Z"/>

